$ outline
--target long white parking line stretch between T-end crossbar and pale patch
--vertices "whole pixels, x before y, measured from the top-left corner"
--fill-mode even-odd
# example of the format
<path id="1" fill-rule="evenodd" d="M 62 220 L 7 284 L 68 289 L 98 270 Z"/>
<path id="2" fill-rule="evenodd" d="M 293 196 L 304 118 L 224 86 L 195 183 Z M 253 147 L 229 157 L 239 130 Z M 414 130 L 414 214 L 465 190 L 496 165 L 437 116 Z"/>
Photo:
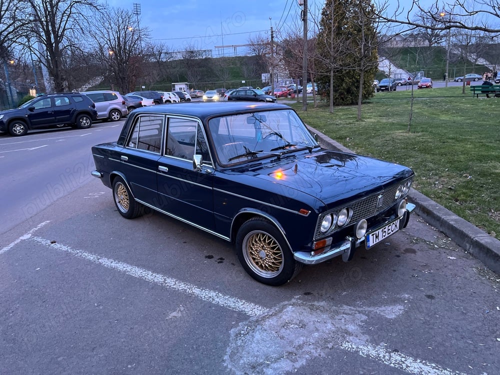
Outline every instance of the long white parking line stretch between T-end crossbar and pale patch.
<path id="1" fill-rule="evenodd" d="M 199 286 L 189 284 L 187 282 L 183 282 L 172 277 L 163 276 L 162 274 L 152 272 L 144 268 L 139 268 L 134 265 L 121 262 L 119 260 L 114 260 L 111 258 L 106 258 L 104 256 L 95 255 L 90 252 L 73 249 L 69 246 L 60 243 L 51 243 L 51 241 L 45 238 L 30 237 L 30 239 L 49 248 L 55 248 L 60 251 L 68 252 L 71 255 L 75 255 L 83 259 L 89 260 L 93 263 L 103 265 L 104 267 L 116 269 L 130 276 L 134 276 L 152 282 L 154 284 L 164 286 L 168 289 L 184 292 L 189 295 L 200 298 L 204 301 L 211 302 L 234 311 L 243 312 L 250 316 L 257 316 L 268 310 L 263 306 L 259 306 L 257 304 L 247 302 L 242 299 L 224 295 L 217 291 L 201 288 Z"/>

